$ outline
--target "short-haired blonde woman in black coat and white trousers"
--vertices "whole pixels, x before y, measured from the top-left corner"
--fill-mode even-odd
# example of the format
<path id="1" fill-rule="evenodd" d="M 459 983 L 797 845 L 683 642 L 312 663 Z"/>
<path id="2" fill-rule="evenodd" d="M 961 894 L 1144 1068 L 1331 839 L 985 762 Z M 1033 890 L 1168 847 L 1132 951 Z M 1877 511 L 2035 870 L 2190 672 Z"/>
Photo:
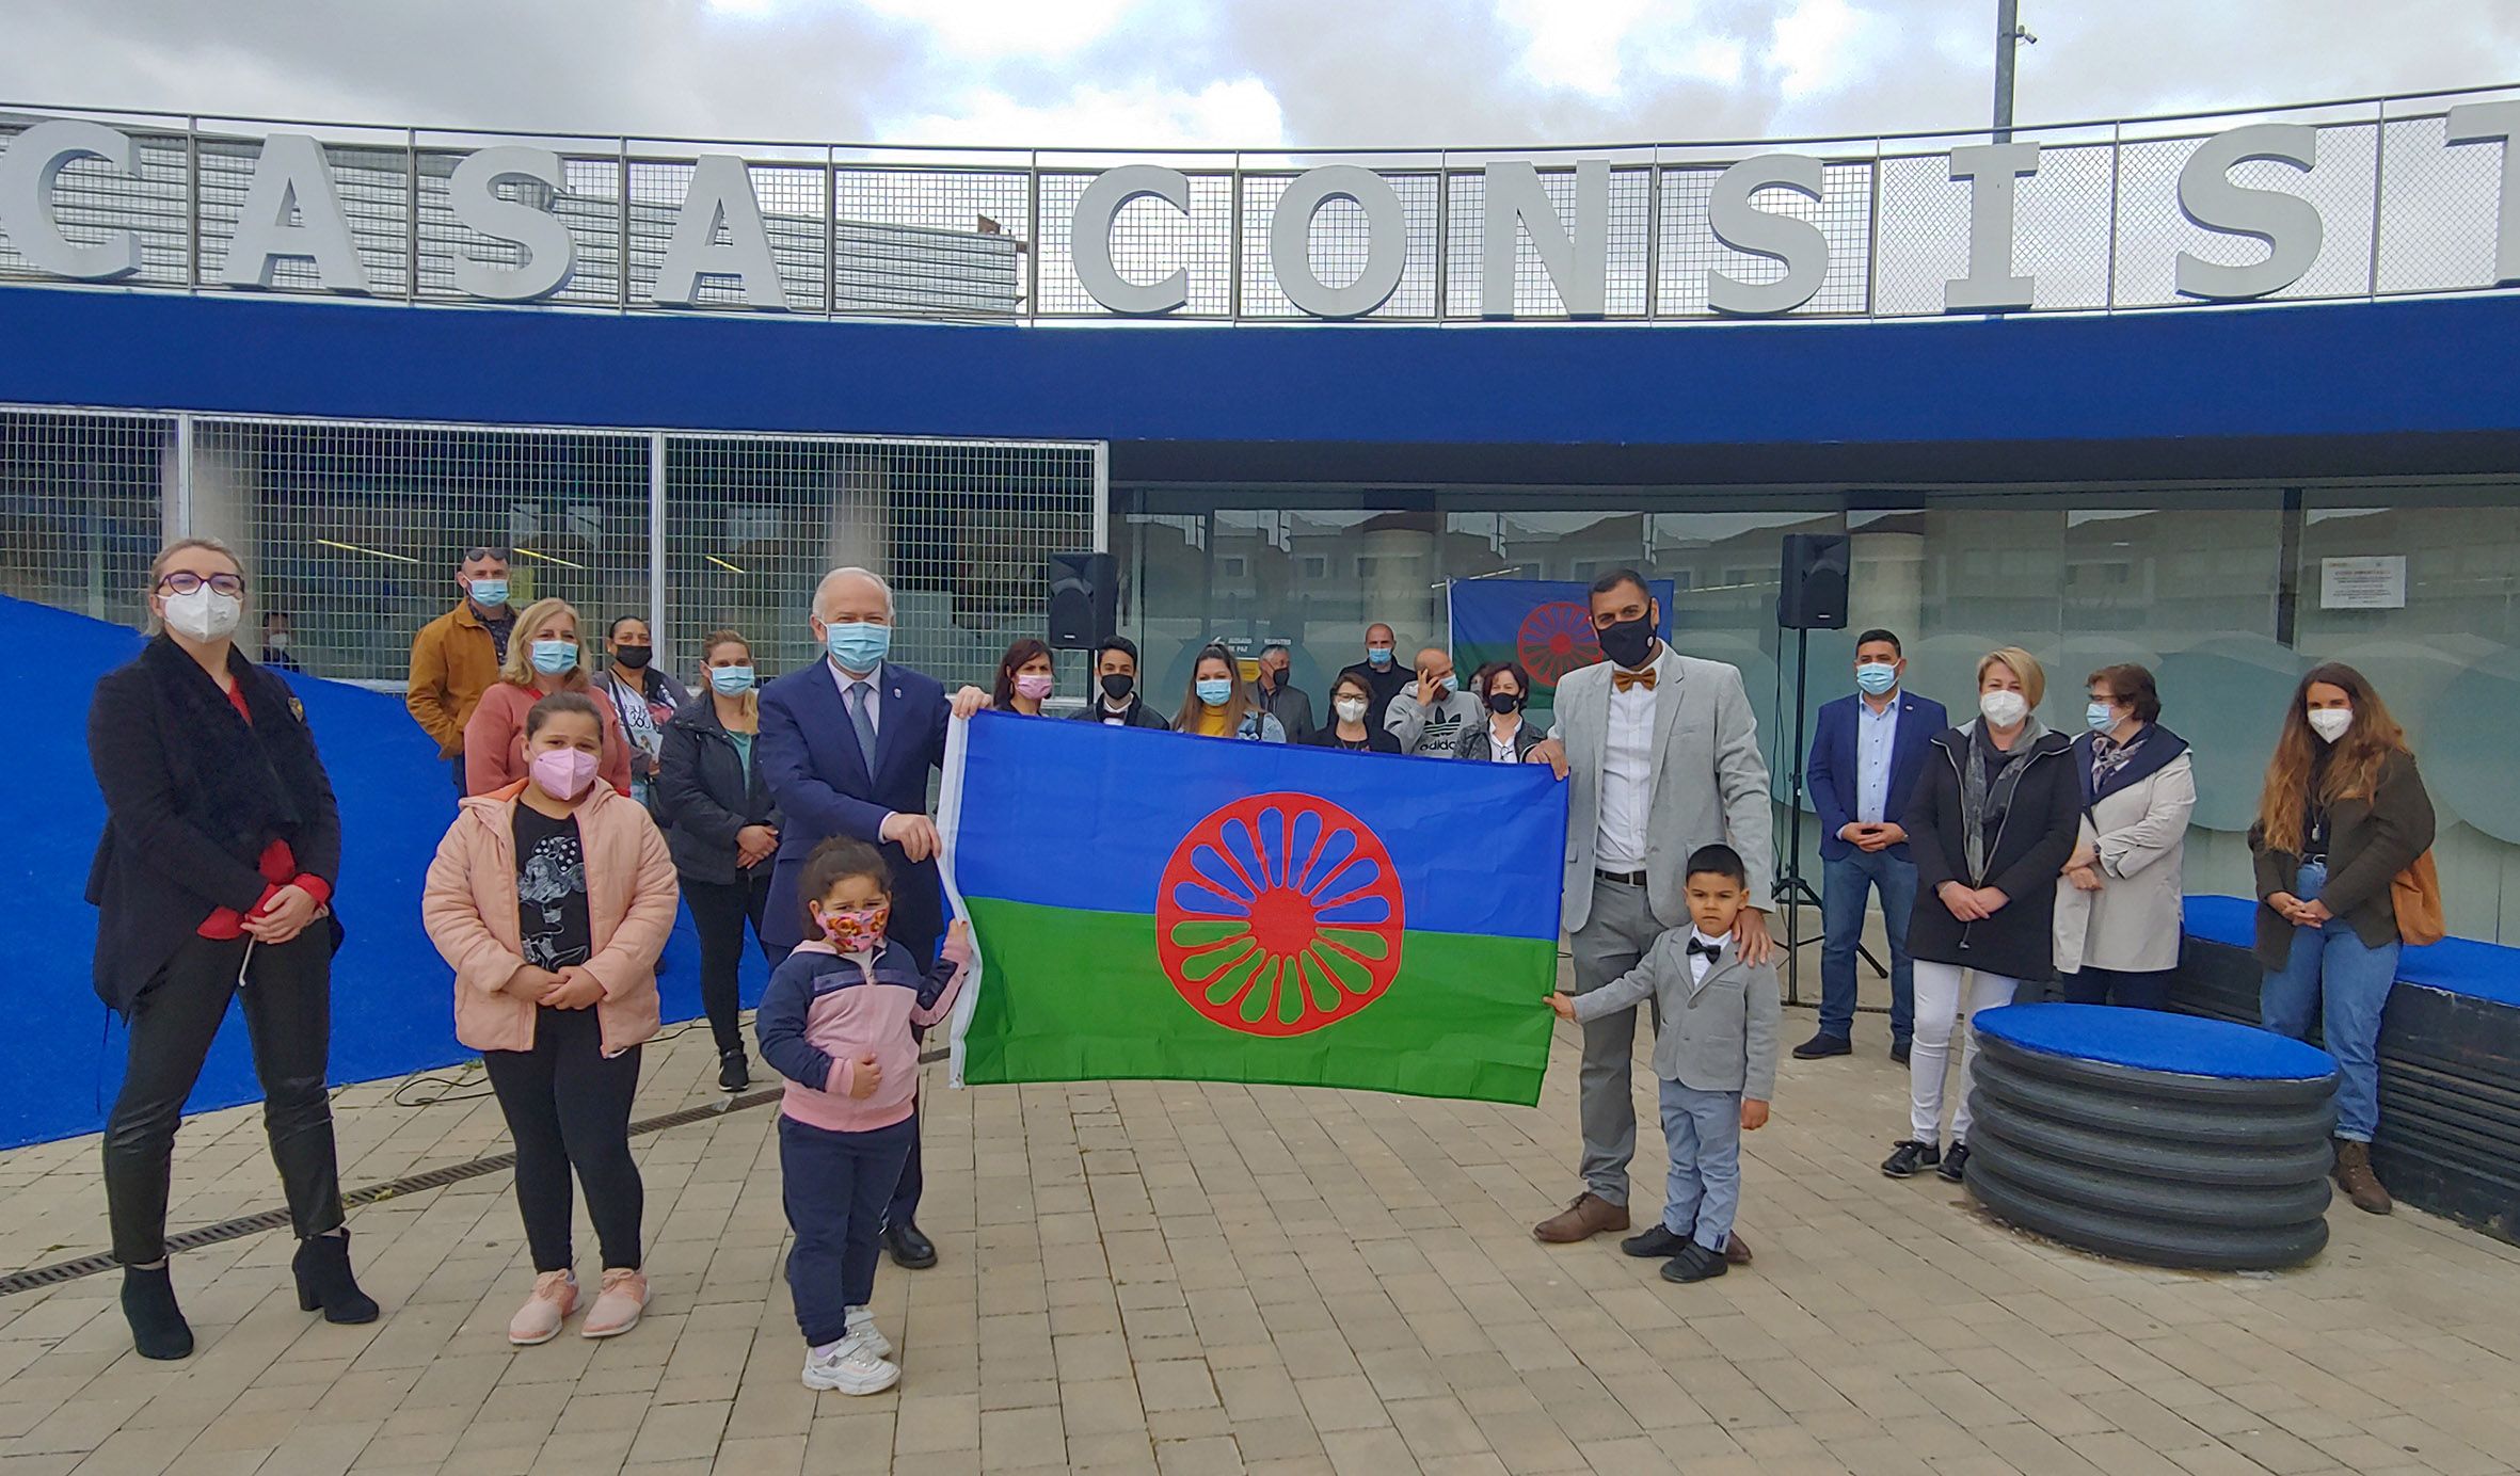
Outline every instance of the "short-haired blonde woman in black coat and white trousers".
<path id="1" fill-rule="evenodd" d="M 1938 1169 L 1968 1176 L 1968 1086 L 1978 1035 L 1963 1023 L 2011 1005 L 2024 980 L 2056 977 L 2056 874 L 2082 826 L 2074 743 L 2034 715 L 2046 673 L 2008 645 L 1978 657 L 1978 720 L 1933 738 L 1933 753 L 1908 798 L 1908 851 L 1915 856 L 1915 1040 L 1908 1050 L 1908 1128 L 1882 1174 L 1908 1179 Z M 1966 975 L 1966 980 L 1963 980 Z M 1961 1103 L 1943 1151 L 1943 1068 L 1953 1025 L 1961 1048 Z"/>

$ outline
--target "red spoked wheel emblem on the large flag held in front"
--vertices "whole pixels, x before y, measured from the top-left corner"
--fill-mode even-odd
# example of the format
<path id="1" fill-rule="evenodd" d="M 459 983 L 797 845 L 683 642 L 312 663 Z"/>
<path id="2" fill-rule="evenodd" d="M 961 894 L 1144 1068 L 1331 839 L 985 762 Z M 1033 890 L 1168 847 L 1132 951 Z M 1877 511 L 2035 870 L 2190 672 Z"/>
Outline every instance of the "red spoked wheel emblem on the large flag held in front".
<path id="1" fill-rule="evenodd" d="M 1154 952 L 1182 1000 L 1227 1030 L 1320 1030 L 1399 975 L 1401 879 L 1381 836 L 1326 798 L 1237 798 L 1172 849 Z"/>

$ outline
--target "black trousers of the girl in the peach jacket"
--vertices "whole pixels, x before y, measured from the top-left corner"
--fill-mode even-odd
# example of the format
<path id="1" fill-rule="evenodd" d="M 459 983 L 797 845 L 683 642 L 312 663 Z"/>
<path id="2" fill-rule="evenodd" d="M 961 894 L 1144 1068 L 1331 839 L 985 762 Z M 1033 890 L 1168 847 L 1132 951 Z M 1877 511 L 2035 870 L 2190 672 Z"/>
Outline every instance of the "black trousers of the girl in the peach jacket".
<path id="1" fill-rule="evenodd" d="M 633 1045 L 605 1060 L 595 1010 L 534 1010 L 532 1050 L 484 1050 L 481 1065 L 517 1138 L 517 1212 L 537 1272 L 564 1272 L 570 1247 L 570 1169 L 587 1191 L 587 1219 L 605 1269 L 640 1267 L 640 1214 L 648 1189 L 630 1156 L 630 1098 L 638 1093 Z"/>

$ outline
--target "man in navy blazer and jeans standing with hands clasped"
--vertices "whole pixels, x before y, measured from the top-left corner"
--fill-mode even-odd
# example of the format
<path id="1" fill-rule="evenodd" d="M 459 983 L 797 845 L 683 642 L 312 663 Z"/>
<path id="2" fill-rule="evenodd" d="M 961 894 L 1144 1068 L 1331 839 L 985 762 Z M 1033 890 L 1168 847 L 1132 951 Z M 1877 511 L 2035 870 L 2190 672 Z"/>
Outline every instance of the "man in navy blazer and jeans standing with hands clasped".
<path id="1" fill-rule="evenodd" d="M 1794 1048 L 1799 1060 L 1855 1050 L 1855 952 L 1865 937 L 1865 894 L 1880 892 L 1890 934 L 1890 1058 L 1908 1060 L 1915 1033 L 1915 967 L 1908 962 L 1908 912 L 1915 861 L 1908 856 L 1908 793 L 1950 725 L 1943 703 L 1900 685 L 1908 657 L 1887 630 L 1855 637 L 1855 695 L 1819 708 L 1812 738 L 1812 809 L 1819 811 L 1819 1033 Z"/>

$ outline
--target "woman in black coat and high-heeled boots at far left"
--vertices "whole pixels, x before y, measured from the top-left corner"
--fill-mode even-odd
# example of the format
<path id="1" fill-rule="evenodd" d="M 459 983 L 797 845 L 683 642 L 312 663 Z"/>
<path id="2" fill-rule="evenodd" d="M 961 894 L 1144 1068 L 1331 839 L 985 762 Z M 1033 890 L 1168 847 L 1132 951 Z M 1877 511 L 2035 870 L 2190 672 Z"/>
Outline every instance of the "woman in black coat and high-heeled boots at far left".
<path id="1" fill-rule="evenodd" d="M 106 1118 L 106 1212 L 141 1358 L 192 1353 L 166 1269 L 166 1186 L 184 1098 L 237 997 L 297 1229 L 297 1305 L 375 1320 L 350 1277 L 325 1096 L 340 811 L 297 698 L 237 650 L 242 615 L 244 567 L 224 544 L 169 544 L 149 569 L 156 640 L 106 673 L 88 708 L 106 796 L 88 871 L 96 992 L 131 1038 Z"/>

